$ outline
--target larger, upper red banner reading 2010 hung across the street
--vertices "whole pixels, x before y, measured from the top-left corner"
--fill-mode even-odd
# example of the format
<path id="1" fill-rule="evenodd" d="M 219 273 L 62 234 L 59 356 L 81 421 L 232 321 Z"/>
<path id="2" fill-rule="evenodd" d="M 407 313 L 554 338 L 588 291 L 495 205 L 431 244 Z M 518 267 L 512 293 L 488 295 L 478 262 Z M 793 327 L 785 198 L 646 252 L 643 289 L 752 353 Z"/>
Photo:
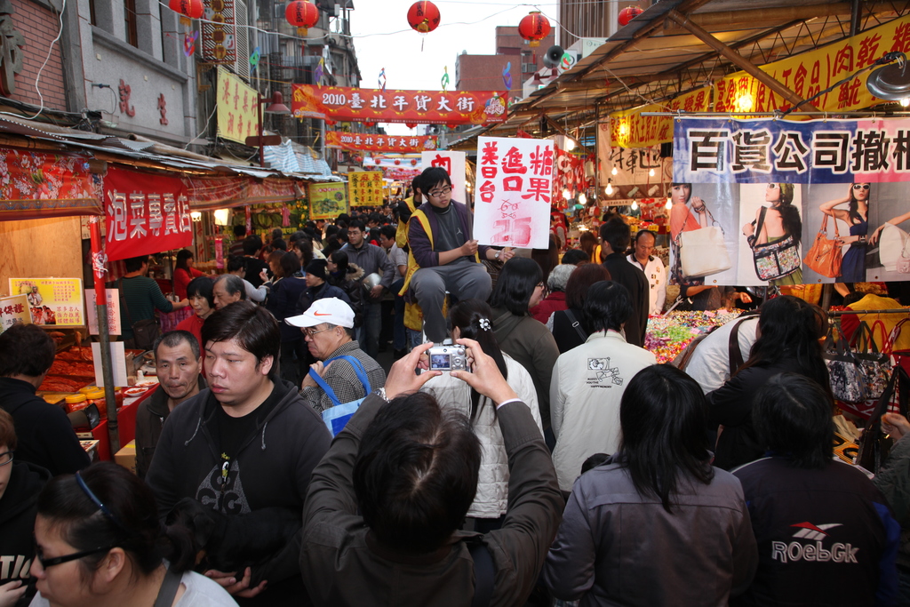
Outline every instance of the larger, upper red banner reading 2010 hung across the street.
<path id="1" fill-rule="evenodd" d="M 420 125 L 505 122 L 508 91 L 401 91 L 294 85 L 296 117 Z"/>

